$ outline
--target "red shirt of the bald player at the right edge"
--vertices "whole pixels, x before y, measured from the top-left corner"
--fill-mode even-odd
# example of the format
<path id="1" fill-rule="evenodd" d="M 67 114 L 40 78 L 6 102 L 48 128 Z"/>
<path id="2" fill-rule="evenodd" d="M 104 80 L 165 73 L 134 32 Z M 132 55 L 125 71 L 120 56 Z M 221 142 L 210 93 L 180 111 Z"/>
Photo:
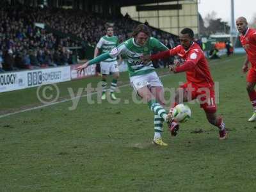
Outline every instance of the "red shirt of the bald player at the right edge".
<path id="1" fill-rule="evenodd" d="M 248 28 L 245 35 L 240 35 L 241 44 L 246 51 L 248 60 L 256 69 L 256 29 Z"/>

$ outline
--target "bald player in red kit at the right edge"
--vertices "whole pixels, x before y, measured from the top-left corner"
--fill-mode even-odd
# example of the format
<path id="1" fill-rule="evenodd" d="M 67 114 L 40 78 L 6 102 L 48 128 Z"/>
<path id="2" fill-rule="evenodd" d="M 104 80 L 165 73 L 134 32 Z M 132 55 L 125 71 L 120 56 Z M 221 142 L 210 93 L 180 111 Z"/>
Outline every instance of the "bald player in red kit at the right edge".
<path id="1" fill-rule="evenodd" d="M 239 17 L 236 20 L 236 26 L 241 34 L 241 44 L 246 51 L 243 72 L 245 73 L 248 71 L 246 90 L 253 106 L 253 115 L 248 119 L 248 122 L 254 122 L 256 120 L 256 92 L 254 90 L 256 84 L 256 29 L 248 28 L 248 23 L 244 17 Z M 250 69 L 248 69 L 249 62 L 251 63 Z"/>

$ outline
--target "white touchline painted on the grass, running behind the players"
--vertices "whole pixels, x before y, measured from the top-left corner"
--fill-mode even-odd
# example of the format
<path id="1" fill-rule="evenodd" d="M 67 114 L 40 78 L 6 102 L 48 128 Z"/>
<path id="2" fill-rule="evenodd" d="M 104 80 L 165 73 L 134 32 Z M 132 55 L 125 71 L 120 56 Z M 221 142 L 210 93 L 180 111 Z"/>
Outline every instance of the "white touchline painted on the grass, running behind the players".
<path id="1" fill-rule="evenodd" d="M 241 57 L 242 58 L 242 57 Z M 236 60 L 239 60 L 240 58 L 236 58 Z M 227 61 L 230 61 L 230 60 L 225 60 L 225 61 L 220 61 L 220 63 L 223 63 L 223 62 L 227 62 Z M 218 61 L 216 62 L 211 62 L 211 63 L 217 63 Z M 210 63 L 210 62 L 209 62 Z M 159 76 L 159 77 L 166 77 L 166 76 L 170 76 L 170 74 L 166 74 L 166 75 L 163 75 L 163 76 Z M 125 86 L 129 86 L 130 84 L 123 84 L 122 86 L 118 86 L 118 88 L 122 88 L 122 87 L 125 87 Z M 6 113 L 4 115 L 0 115 L 0 118 L 3 118 L 3 117 L 6 117 L 6 116 L 11 116 L 11 115 L 15 115 L 15 114 L 19 114 L 19 113 L 24 113 L 26 111 L 33 111 L 35 109 L 41 109 L 41 108 L 46 108 L 48 106 L 54 106 L 56 104 L 60 104 L 61 102 L 67 102 L 67 101 L 70 101 L 70 100 L 74 100 L 74 99 L 79 99 L 81 97 L 87 97 L 88 95 L 95 95 L 97 94 L 98 92 L 93 92 L 93 93 L 88 93 L 88 94 L 85 94 L 85 95 L 81 95 L 81 96 L 77 96 L 77 97 L 73 97 L 71 99 L 64 99 L 64 100 L 60 100 L 60 101 L 57 101 L 57 102 L 52 102 L 50 104 L 44 104 L 42 106 L 37 106 L 37 107 L 34 107 L 34 108 L 28 108 L 28 109 L 23 109 L 23 110 L 20 110 L 20 111 L 16 111 L 16 112 L 13 112 L 13 113 Z"/>

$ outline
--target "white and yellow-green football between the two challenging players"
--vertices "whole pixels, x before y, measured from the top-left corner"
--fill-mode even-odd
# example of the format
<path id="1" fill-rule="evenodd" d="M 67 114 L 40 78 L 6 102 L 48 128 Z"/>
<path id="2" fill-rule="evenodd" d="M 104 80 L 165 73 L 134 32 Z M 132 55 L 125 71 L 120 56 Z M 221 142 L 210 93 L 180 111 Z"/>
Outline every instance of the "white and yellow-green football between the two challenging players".
<path id="1" fill-rule="evenodd" d="M 178 104 L 173 109 L 173 120 L 184 123 L 191 117 L 191 109 L 184 104 Z"/>

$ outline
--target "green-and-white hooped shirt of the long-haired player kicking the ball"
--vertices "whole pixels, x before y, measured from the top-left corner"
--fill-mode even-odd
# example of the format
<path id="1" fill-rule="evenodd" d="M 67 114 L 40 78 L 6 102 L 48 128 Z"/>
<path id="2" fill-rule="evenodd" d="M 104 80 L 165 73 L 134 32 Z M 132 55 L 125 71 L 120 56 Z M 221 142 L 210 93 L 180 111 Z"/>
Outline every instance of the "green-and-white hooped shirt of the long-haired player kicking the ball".
<path id="1" fill-rule="evenodd" d="M 152 72 L 155 68 L 153 67 L 152 61 L 147 64 L 140 60 L 140 56 L 143 54 L 152 54 L 153 51 L 166 51 L 168 48 L 164 46 L 156 38 L 150 37 L 145 46 L 134 42 L 134 38 L 130 38 L 118 47 L 112 49 L 109 52 L 111 58 L 115 58 L 119 54 L 122 54 L 122 58 L 128 65 L 129 76 L 140 76 Z"/>

